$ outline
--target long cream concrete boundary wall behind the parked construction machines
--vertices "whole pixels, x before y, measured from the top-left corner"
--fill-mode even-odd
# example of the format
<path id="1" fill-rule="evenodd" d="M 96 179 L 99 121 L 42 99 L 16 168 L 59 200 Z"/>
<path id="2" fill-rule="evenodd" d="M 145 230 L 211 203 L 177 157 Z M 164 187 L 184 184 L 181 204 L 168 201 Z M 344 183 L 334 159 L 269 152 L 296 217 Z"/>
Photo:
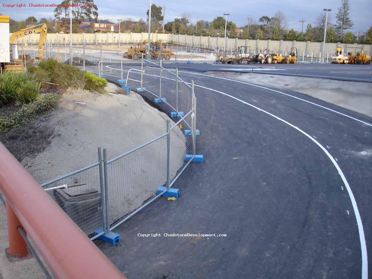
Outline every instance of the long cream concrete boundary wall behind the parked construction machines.
<path id="1" fill-rule="evenodd" d="M 120 41 L 123 43 L 133 42 L 143 42 L 148 38 L 148 33 L 121 33 Z M 35 43 L 39 39 L 39 34 L 32 34 L 21 38 L 19 43 Z M 215 46 L 219 48 L 224 47 L 224 38 L 210 37 L 210 36 L 195 36 L 195 35 L 179 35 L 179 34 L 158 34 L 151 33 L 152 41 L 162 42 L 173 42 L 177 44 L 183 44 L 191 47 L 208 47 L 214 49 Z M 77 43 L 95 43 L 98 44 L 112 44 L 119 42 L 118 33 L 79 33 L 72 35 L 73 44 Z M 58 34 L 58 33 L 48 33 L 47 42 L 49 43 L 61 43 L 70 44 L 70 34 Z M 226 48 L 228 51 L 234 51 L 239 46 L 250 47 L 251 51 L 270 51 L 270 52 L 289 52 L 292 47 L 296 47 L 300 55 L 305 56 L 314 55 L 318 56 L 322 50 L 323 42 L 297 42 L 297 41 L 272 41 L 272 40 L 245 40 L 245 39 L 226 39 Z M 330 55 L 336 52 L 336 48 L 341 47 L 344 52 L 357 52 L 364 51 L 369 55 L 372 55 L 371 45 L 363 44 L 344 44 L 344 43 L 326 43 L 324 47 L 324 52 Z"/>

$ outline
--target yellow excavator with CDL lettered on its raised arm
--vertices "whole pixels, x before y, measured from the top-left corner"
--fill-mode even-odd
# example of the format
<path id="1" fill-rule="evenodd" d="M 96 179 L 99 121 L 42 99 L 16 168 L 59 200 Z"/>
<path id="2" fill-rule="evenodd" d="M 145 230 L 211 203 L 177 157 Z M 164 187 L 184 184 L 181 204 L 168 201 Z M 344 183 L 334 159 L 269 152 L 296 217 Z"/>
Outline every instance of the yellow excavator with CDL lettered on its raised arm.
<path id="1" fill-rule="evenodd" d="M 45 23 L 39 24 L 39 25 L 34 25 L 30 26 L 25 29 L 21 29 L 15 33 L 13 33 L 10 38 L 9 38 L 9 44 L 10 44 L 10 63 L 2 62 L 1 63 L 1 68 L 3 70 L 3 73 L 6 71 L 16 71 L 16 72 L 21 72 L 24 70 L 24 64 L 23 64 L 23 59 L 26 60 L 26 57 L 29 57 L 29 55 L 23 55 L 22 59 L 13 59 L 12 58 L 12 45 L 15 43 L 17 39 L 20 39 L 24 36 L 28 36 L 31 34 L 35 33 L 40 33 L 40 38 L 38 42 L 38 54 L 35 55 L 35 61 L 39 61 L 44 58 L 44 51 L 45 51 L 45 46 L 43 44 L 45 43 L 47 39 L 47 33 L 48 33 L 48 28 Z"/>

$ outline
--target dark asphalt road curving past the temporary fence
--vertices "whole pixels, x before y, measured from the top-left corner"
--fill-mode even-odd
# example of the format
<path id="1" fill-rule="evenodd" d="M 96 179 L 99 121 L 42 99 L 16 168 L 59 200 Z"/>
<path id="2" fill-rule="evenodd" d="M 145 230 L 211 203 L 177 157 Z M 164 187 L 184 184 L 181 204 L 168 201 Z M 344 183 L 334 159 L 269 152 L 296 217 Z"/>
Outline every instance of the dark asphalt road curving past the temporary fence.
<path id="1" fill-rule="evenodd" d="M 196 150 L 205 161 L 190 164 L 173 185 L 177 201 L 157 199 L 115 229 L 120 244 L 96 245 L 129 279 L 367 279 L 372 118 L 289 90 L 180 76 L 195 81 Z M 138 237 L 151 233 L 161 236 Z"/>

